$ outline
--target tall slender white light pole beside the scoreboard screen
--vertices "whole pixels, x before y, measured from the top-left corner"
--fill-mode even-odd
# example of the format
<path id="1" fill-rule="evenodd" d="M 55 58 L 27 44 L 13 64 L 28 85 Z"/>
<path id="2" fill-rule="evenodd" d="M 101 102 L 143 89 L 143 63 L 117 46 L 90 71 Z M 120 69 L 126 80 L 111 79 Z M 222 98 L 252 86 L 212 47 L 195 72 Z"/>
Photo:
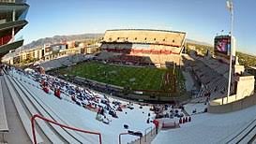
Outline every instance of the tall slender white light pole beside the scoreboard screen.
<path id="1" fill-rule="evenodd" d="M 228 83 L 228 94 L 227 103 L 229 102 L 229 96 L 231 94 L 231 82 L 232 82 L 232 62 L 233 62 L 233 0 L 227 0 L 227 7 L 231 14 L 231 50 L 230 50 L 230 71 L 229 71 L 229 83 Z"/>

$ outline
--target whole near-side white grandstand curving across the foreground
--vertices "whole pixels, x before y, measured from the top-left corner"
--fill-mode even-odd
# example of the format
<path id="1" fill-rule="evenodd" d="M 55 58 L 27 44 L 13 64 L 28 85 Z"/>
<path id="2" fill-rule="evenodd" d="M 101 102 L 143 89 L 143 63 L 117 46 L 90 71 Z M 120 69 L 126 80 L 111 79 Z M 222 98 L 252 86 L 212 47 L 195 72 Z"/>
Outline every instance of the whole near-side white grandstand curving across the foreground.
<path id="1" fill-rule="evenodd" d="M 151 107 L 134 103 L 130 105 L 133 109 L 123 108 L 123 111 L 117 112 L 117 119 L 112 118 L 111 124 L 105 124 L 95 119 L 96 112 L 94 108 L 83 108 L 83 105 L 96 102 L 97 99 L 99 99 L 98 106 L 103 106 L 105 103 L 104 100 L 107 99 L 109 99 L 111 103 L 118 101 L 121 105 L 128 106 L 129 103 L 124 100 L 117 100 L 114 97 L 106 97 L 104 96 L 105 94 L 98 94 L 89 89 L 84 89 L 86 97 L 97 97 L 97 99 L 93 98 L 87 101 L 80 99 L 79 94 L 76 94 L 76 101 L 73 101 L 71 96 L 72 93 L 75 92 L 73 90 L 79 89 L 75 89 L 76 86 L 72 83 L 68 84 L 67 81 L 56 79 L 48 75 L 25 73 L 15 69 L 9 71 L 9 74 L 9 76 L 5 75 L 4 78 L 1 78 L 1 83 L 2 85 L 5 83 L 5 87 L 9 90 L 7 92 L 10 93 L 9 96 L 14 100 L 15 107 L 19 109 L 18 116 L 22 118 L 21 121 L 24 126 L 23 131 L 27 133 L 26 137 L 29 138 L 28 141 L 33 141 L 31 133 L 32 127 L 29 123 L 29 119 L 31 115 L 37 113 L 56 122 L 97 132 L 102 136 L 102 143 L 117 143 L 117 136 L 127 131 L 122 127 L 124 123 L 129 125 L 130 130 L 143 132 L 143 136 L 148 134 L 147 137 L 143 137 L 141 141 L 144 141 L 145 138 L 146 140 L 153 140 L 152 143 L 165 144 L 169 143 L 170 140 L 173 141 L 173 143 L 248 143 L 255 140 L 255 106 L 227 114 L 211 114 L 204 111 L 207 105 L 202 103 L 189 103 L 184 105 L 186 112 L 183 113 L 182 108 L 177 108 L 177 110 L 180 113 L 179 115 L 190 115 L 191 122 L 179 123 L 178 117 L 159 119 L 160 125 L 164 126 L 164 129 L 160 130 L 156 137 L 153 132 L 155 137 L 153 138 L 150 133 L 154 131 L 154 125 L 153 123 L 146 123 L 148 112 L 150 112 L 151 119 L 154 119 L 156 116 L 153 111 L 149 110 Z M 46 94 L 40 89 L 40 83 L 38 83 L 38 81 L 40 81 L 39 79 L 45 79 L 52 85 L 50 94 Z M 61 99 L 53 94 L 55 83 L 64 83 L 64 85 L 66 85 L 63 87 Z M 71 91 L 68 89 L 69 86 Z M 111 106 L 113 105 L 111 104 Z M 192 112 L 195 108 L 197 109 L 196 113 Z M 173 110 L 173 108 L 167 107 L 161 110 L 161 113 L 166 115 L 166 113 L 170 113 L 170 110 Z M 110 115 L 107 114 L 107 116 L 111 119 L 109 117 Z M 138 119 L 139 117 L 140 119 Z M 173 128 L 173 123 L 179 123 L 179 126 Z M 38 143 L 99 143 L 98 137 L 94 135 L 67 130 L 44 121 L 37 121 L 37 125 L 38 129 L 36 129 L 36 135 Z M 168 125 L 171 126 L 168 127 Z M 106 129 L 108 131 L 106 131 Z M 146 129 L 152 130 L 144 132 Z M 209 138 L 205 139 L 203 137 Z M 8 135 L 6 138 L 9 142 L 15 143 L 15 138 L 11 138 Z M 23 137 L 23 139 L 25 138 Z M 139 143 L 140 140 L 136 139 L 137 137 L 135 136 L 122 137 L 122 143 Z"/>

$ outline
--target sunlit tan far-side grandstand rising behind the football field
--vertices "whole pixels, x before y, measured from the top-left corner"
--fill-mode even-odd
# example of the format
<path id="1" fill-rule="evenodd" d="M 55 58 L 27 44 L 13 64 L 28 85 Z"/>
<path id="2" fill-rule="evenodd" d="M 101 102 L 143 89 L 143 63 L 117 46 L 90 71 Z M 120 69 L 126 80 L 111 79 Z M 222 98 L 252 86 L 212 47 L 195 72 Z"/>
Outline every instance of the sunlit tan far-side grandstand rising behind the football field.
<path id="1" fill-rule="evenodd" d="M 101 50 L 108 52 L 146 56 L 153 64 L 162 66 L 167 62 L 180 64 L 186 33 L 152 29 L 107 30 Z"/>

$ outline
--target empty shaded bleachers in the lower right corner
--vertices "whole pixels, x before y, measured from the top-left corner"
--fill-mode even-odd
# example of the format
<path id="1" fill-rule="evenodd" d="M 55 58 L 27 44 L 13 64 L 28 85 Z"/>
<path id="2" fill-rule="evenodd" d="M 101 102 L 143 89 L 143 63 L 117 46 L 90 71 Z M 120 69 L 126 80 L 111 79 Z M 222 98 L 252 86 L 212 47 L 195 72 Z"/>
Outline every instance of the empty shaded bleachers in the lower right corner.
<path id="1" fill-rule="evenodd" d="M 255 136 L 255 106 L 226 114 L 202 113 L 177 130 L 161 131 L 153 144 L 248 143 Z M 206 137 L 206 138 L 205 138 Z M 254 141 L 255 142 L 255 141 Z"/>

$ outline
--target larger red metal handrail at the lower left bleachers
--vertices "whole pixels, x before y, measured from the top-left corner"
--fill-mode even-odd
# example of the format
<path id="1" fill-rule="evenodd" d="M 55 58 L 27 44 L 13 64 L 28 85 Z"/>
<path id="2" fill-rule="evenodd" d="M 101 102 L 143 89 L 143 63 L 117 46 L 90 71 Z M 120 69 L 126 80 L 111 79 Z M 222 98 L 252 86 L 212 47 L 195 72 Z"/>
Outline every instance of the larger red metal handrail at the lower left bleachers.
<path id="1" fill-rule="evenodd" d="M 83 133 L 86 133 L 86 134 L 92 134 L 92 135 L 98 135 L 98 139 L 99 139 L 99 144 L 102 144 L 102 141 L 101 141 L 101 134 L 100 133 L 97 133 L 97 132 L 91 132 L 91 131 L 86 131 L 86 130 L 82 130 L 82 129 L 78 129 L 78 128 L 75 128 L 75 127 L 71 127 L 71 126 L 68 126 L 68 125 L 64 125 L 64 124 L 61 124 L 61 123 L 58 123 L 58 122 L 54 122 L 53 120 L 50 120 L 50 119 L 47 119 L 47 118 L 44 118 L 38 114 L 35 114 L 31 117 L 31 124 L 32 124 L 32 136 L 33 136 L 33 139 L 34 139 L 34 144 L 37 144 L 37 137 L 36 137 L 36 131 L 35 131 L 35 120 L 36 118 L 39 118 L 43 121 L 46 121 L 46 122 L 51 122 L 53 124 L 56 124 L 56 125 L 59 125 L 60 127 L 63 127 L 63 128 L 68 128 L 68 129 L 71 129 L 71 130 L 74 130 L 74 131 L 79 131 L 79 132 L 83 132 Z"/>

